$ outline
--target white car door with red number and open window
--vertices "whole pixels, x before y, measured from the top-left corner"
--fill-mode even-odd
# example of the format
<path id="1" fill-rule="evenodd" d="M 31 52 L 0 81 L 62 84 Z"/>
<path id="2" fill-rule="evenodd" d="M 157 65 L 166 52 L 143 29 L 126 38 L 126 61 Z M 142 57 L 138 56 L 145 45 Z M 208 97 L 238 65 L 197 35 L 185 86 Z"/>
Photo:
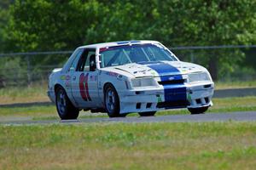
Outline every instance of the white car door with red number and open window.
<path id="1" fill-rule="evenodd" d="M 90 69 L 90 60 L 96 60 L 95 48 L 84 48 L 75 71 L 71 72 L 73 100 L 81 108 L 96 107 L 99 102 L 98 70 Z"/>

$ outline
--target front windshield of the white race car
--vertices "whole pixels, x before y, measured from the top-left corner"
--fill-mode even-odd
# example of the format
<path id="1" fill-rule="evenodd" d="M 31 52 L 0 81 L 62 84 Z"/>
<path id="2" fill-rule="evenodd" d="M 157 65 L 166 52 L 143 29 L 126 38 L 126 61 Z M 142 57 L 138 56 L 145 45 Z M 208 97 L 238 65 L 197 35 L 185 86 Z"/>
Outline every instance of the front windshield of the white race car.
<path id="1" fill-rule="evenodd" d="M 100 48 L 101 67 L 125 65 L 129 63 L 144 63 L 177 60 L 160 44 L 133 44 L 109 48 Z"/>

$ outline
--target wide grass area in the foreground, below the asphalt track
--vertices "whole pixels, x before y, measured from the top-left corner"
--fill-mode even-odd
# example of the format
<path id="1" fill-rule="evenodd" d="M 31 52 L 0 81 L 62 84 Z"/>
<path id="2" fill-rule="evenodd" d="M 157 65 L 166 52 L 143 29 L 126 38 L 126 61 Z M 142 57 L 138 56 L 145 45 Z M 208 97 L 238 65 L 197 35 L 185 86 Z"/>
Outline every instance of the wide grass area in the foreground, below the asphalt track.
<path id="1" fill-rule="evenodd" d="M 253 169 L 256 122 L 0 126 L 0 169 Z"/>

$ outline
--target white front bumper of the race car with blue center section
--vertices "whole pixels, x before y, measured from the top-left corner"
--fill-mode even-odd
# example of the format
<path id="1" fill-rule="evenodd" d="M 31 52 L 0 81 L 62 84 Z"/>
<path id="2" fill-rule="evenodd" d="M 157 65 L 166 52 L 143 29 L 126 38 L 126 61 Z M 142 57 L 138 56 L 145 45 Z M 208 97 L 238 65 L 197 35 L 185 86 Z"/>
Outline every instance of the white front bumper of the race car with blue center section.
<path id="1" fill-rule="evenodd" d="M 121 93 L 119 94 L 120 113 L 198 108 L 212 105 L 213 82 L 194 85 L 184 84 L 184 87 L 185 91 L 182 95 L 185 96 L 185 99 L 183 100 L 178 97 L 180 92 L 178 92 L 177 87 L 175 90 L 171 90 L 171 94 L 167 94 L 172 96 L 171 101 L 166 100 L 164 88 L 141 88 Z M 170 87 L 170 89 L 172 88 Z"/>

